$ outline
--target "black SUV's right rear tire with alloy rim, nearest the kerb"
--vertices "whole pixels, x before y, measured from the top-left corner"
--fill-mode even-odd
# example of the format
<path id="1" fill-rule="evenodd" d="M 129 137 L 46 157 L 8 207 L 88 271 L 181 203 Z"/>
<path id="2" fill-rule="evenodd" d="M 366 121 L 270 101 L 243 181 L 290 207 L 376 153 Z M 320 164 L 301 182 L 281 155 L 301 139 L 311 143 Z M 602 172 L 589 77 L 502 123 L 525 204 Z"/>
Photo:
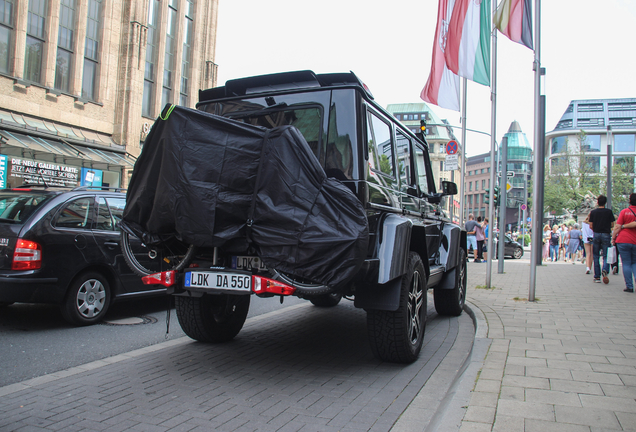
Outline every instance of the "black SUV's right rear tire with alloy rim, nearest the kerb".
<path id="1" fill-rule="evenodd" d="M 394 363 L 414 362 L 424 341 L 426 307 L 426 273 L 420 256 L 411 252 L 407 273 L 402 277 L 398 309 L 367 311 L 373 355 Z"/>

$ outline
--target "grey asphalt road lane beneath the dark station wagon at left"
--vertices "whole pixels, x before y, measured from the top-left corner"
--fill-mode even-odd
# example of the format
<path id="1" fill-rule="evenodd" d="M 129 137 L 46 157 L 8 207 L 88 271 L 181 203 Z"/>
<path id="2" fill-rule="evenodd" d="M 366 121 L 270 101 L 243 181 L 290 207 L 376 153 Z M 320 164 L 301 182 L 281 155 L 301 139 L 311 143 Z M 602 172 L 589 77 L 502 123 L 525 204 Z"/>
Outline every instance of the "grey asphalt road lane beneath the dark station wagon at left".
<path id="1" fill-rule="evenodd" d="M 343 300 L 344 301 L 344 300 Z M 248 318 L 302 303 L 252 296 Z M 168 298 L 116 303 L 102 324 L 73 327 L 57 306 L 16 303 L 0 309 L 0 387 L 185 336 Z"/>

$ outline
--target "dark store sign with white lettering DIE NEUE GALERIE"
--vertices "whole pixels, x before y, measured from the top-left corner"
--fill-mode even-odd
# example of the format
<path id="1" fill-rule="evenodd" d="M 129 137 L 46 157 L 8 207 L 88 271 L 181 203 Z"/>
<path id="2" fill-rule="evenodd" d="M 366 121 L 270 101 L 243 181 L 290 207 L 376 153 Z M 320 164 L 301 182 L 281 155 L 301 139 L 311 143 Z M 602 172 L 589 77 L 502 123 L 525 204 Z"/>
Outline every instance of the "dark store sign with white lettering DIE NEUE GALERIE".
<path id="1" fill-rule="evenodd" d="M 9 175 L 21 179 L 21 183 L 24 184 L 77 186 L 80 169 L 68 165 L 58 165 L 52 162 L 11 158 Z"/>

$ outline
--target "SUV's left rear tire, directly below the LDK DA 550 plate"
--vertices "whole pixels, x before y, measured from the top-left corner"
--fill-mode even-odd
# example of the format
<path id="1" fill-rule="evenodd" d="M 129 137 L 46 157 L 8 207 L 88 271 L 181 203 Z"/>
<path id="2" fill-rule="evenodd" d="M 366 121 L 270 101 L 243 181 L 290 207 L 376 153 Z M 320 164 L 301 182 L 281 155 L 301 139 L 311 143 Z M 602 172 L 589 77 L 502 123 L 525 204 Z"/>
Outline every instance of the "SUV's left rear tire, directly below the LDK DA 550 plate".
<path id="1" fill-rule="evenodd" d="M 175 296 L 181 328 L 199 342 L 227 342 L 241 331 L 250 308 L 249 295 Z"/>

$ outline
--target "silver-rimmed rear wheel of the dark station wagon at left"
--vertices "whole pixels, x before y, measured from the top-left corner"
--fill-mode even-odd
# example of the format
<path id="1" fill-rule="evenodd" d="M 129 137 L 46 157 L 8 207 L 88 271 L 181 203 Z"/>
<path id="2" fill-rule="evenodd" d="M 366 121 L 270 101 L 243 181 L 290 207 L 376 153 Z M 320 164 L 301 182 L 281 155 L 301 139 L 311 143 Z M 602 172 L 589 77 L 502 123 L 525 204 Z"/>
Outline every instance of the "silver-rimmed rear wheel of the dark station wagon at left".
<path id="1" fill-rule="evenodd" d="M 66 321 L 86 326 L 101 321 L 110 306 L 110 285 L 101 273 L 85 272 L 69 285 L 60 305 Z"/>

